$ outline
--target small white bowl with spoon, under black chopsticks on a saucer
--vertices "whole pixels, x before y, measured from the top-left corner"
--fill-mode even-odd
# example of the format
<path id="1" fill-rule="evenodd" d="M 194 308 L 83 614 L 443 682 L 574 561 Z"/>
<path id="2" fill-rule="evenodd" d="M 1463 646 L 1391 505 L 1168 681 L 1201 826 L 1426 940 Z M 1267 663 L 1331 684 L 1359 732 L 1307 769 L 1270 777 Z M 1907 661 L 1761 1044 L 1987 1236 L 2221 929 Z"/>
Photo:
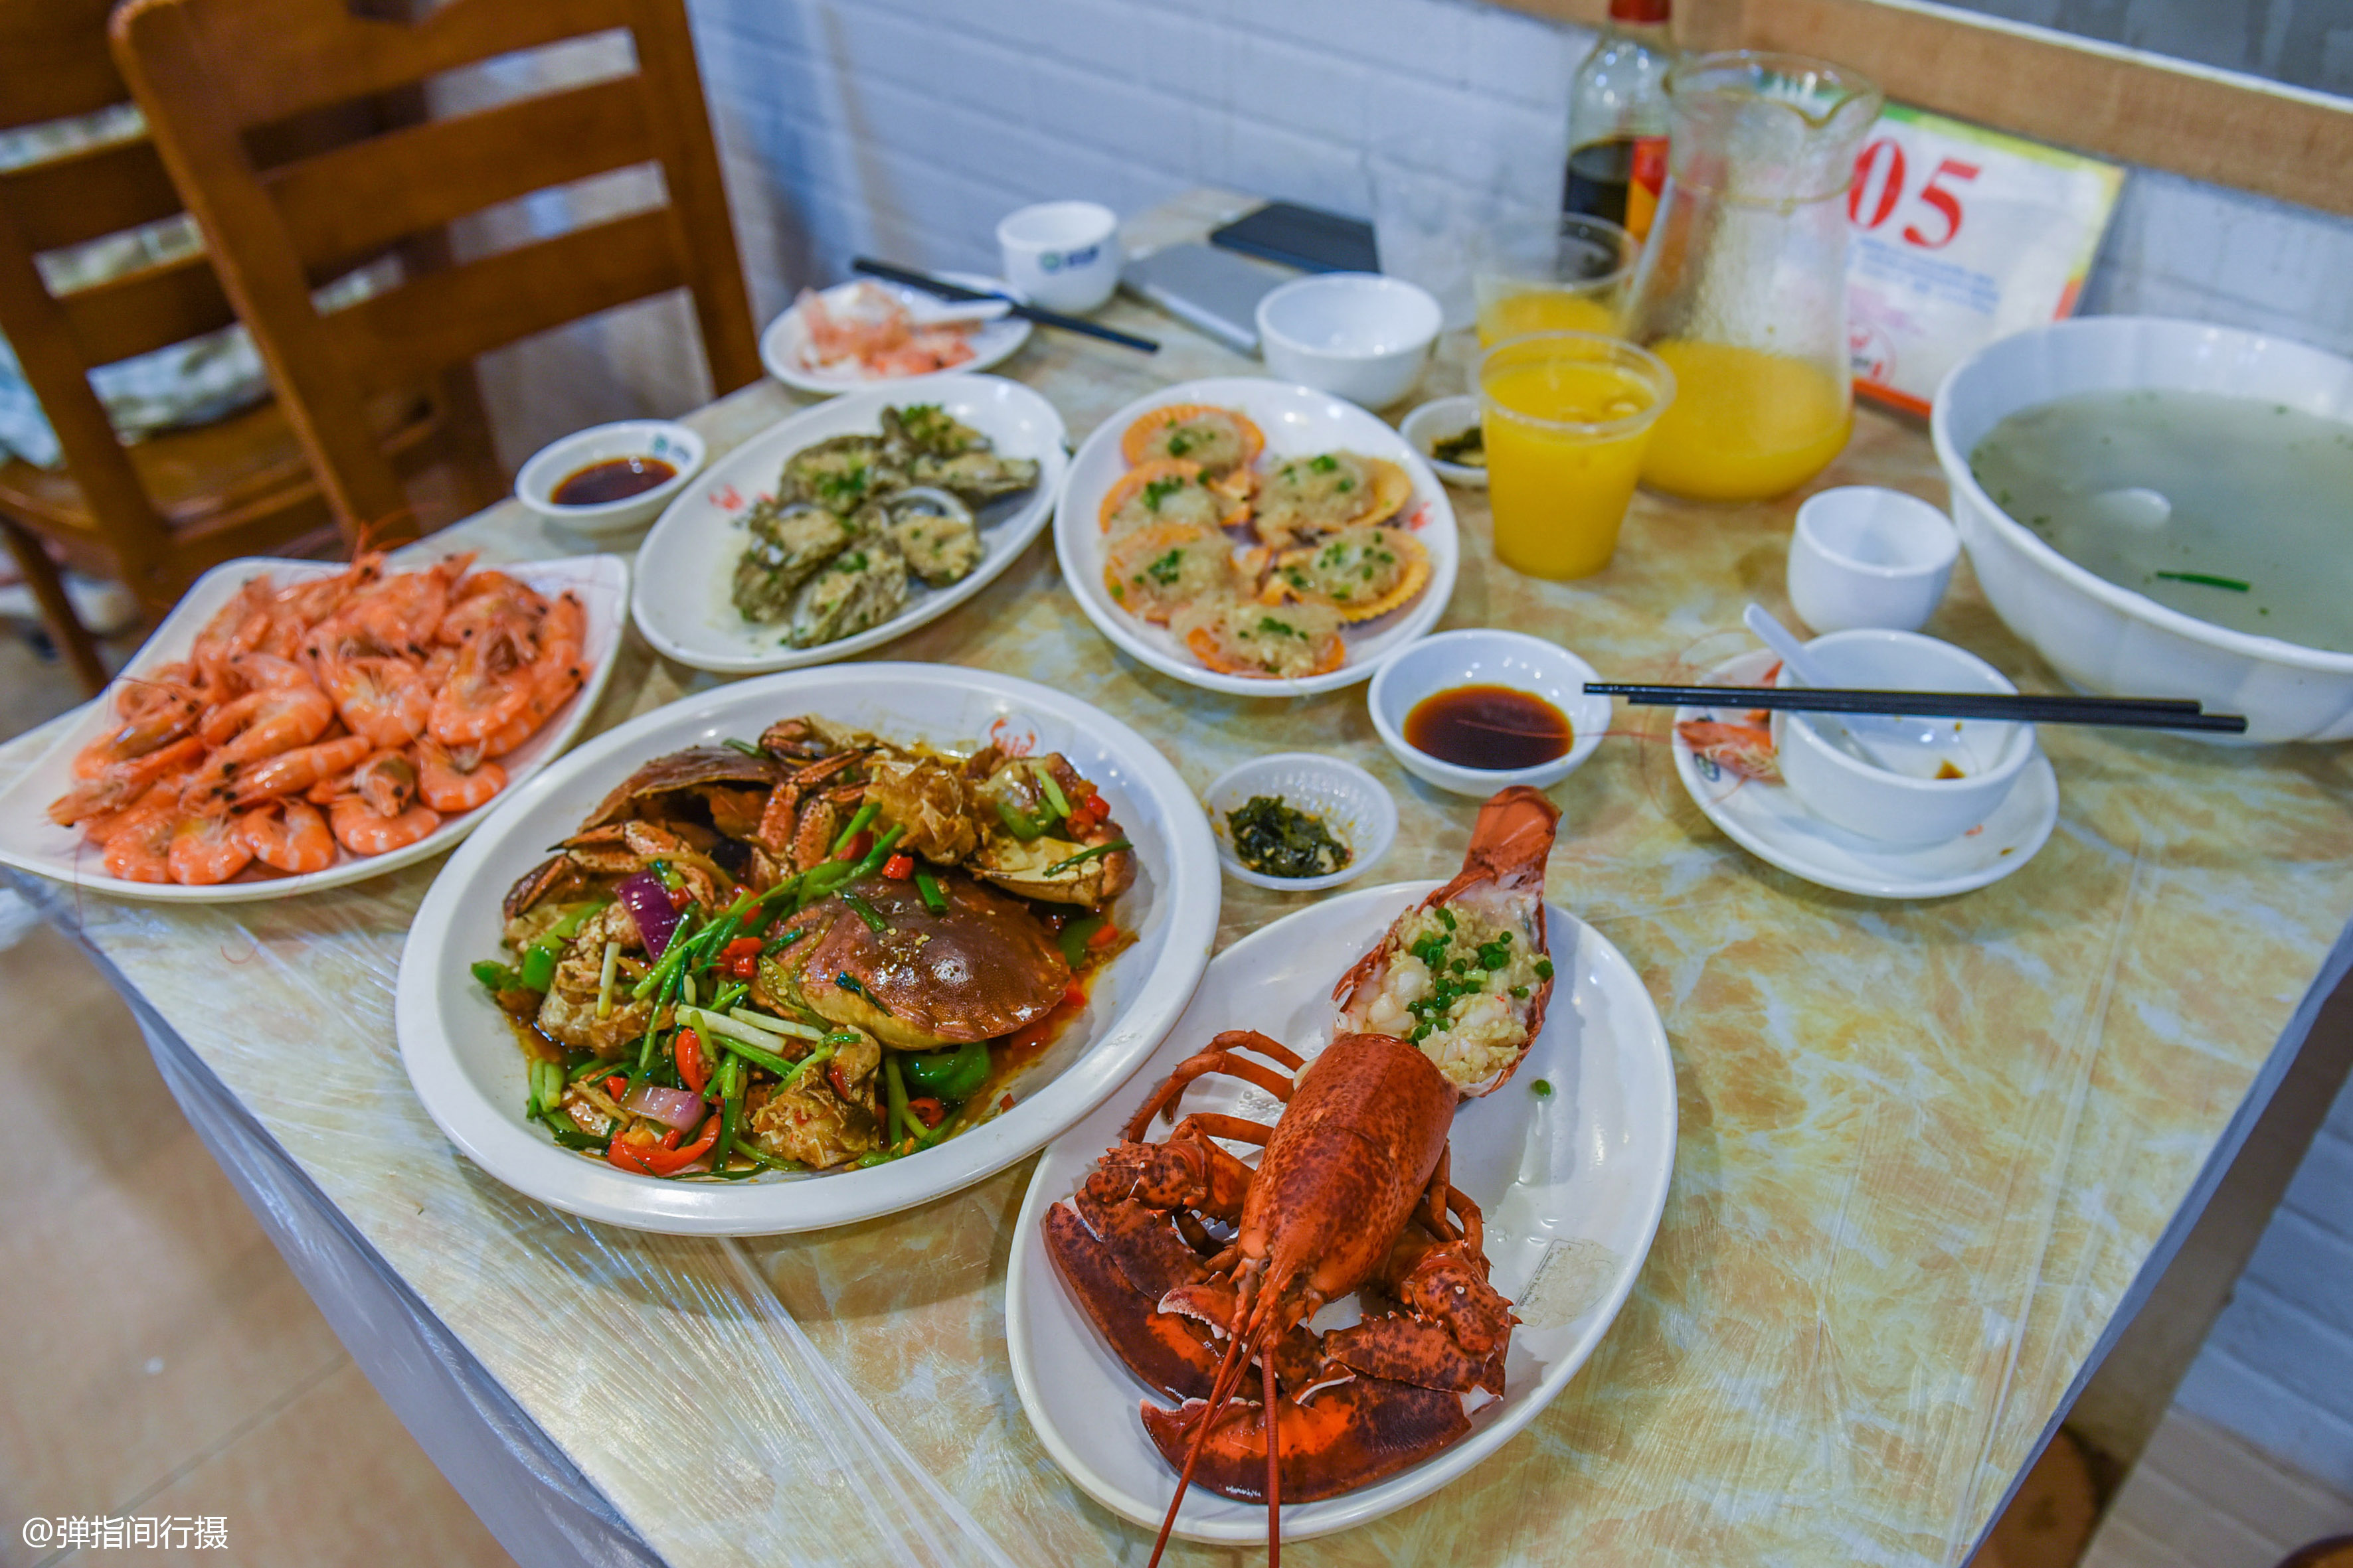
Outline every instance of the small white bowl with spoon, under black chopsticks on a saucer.
<path id="1" fill-rule="evenodd" d="M 2017 691 L 1977 654 L 1918 632 L 1831 632 L 1814 637 L 1805 651 L 1821 665 L 1824 679 L 1840 686 Z M 1788 686 L 1788 670 L 1774 684 Z M 1913 738 L 1873 729 L 1873 750 L 1918 766 L 1918 773 L 1901 773 L 1835 745 L 1831 736 L 1838 733 L 1838 715 L 1777 712 L 1772 738 L 1781 778 L 1821 820 L 1906 846 L 1946 844 L 1984 823 L 2038 750 L 2033 724 L 1918 719 Z M 1934 778 L 1941 759 L 1960 766 L 1962 778 Z"/>

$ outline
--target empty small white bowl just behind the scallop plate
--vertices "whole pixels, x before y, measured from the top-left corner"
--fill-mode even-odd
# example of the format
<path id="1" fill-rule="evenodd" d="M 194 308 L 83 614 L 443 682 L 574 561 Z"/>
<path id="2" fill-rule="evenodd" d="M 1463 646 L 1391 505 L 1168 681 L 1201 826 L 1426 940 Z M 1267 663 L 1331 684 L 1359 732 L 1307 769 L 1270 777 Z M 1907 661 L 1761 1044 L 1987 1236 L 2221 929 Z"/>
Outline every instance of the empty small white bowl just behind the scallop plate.
<path id="1" fill-rule="evenodd" d="M 1315 273 L 1259 301 L 1259 353 L 1282 381 L 1379 409 L 1421 374 L 1438 324 L 1438 301 L 1402 277 Z"/>

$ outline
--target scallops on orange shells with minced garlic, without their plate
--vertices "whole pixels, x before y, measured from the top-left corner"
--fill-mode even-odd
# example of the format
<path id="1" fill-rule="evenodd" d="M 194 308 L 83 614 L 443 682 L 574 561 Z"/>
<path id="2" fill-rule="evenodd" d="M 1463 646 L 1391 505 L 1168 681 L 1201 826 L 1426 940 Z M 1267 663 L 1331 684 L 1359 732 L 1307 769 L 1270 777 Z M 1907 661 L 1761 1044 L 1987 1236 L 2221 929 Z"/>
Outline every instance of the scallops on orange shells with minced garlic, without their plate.
<path id="1" fill-rule="evenodd" d="M 1221 675 L 1292 679 L 1348 658 L 1341 630 L 1405 609 L 1431 555 L 1398 512 L 1412 477 L 1355 451 L 1273 456 L 1238 409 L 1167 404 L 1120 437 L 1096 510 L 1104 592 Z"/>

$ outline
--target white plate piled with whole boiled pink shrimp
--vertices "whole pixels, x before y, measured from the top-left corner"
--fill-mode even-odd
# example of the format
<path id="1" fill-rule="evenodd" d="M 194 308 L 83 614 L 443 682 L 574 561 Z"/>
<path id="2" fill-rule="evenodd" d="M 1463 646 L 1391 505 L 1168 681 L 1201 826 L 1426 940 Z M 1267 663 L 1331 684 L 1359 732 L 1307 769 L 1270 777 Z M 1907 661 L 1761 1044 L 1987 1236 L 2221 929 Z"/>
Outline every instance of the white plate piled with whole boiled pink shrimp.
<path id="1" fill-rule="evenodd" d="M 412 865 L 572 743 L 626 616 L 616 555 L 214 567 L 0 790 L 0 865 L 176 903 Z"/>

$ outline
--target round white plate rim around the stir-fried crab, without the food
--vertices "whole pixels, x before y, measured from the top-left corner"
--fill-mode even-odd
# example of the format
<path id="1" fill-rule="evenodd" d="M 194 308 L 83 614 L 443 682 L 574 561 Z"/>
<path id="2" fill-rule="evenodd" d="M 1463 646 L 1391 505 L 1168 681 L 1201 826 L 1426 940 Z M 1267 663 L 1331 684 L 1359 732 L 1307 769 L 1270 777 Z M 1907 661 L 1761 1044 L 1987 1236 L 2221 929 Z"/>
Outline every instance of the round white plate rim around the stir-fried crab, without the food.
<path id="1" fill-rule="evenodd" d="M 499 898 L 642 762 L 727 736 L 751 738 L 798 712 L 904 741 L 1007 748 L 1026 741 L 1066 755 L 1111 797 L 1113 820 L 1136 846 L 1136 886 L 1118 903 L 1134 945 L 1096 976 L 1087 1011 L 1014 1081 L 1014 1107 L 934 1150 L 868 1171 L 675 1182 L 558 1147 L 522 1119 L 522 1051 L 468 973 L 473 961 L 499 954 Z M 1217 846 L 1176 769 L 1104 710 L 988 670 L 861 663 L 720 686 L 598 736 L 511 795 L 442 867 L 409 926 L 393 999 L 400 1060 L 433 1121 L 489 1175 L 567 1213 L 633 1229 L 701 1237 L 819 1229 L 908 1208 L 1002 1171 L 1127 1081 L 1184 1011 L 1217 936 Z"/>

